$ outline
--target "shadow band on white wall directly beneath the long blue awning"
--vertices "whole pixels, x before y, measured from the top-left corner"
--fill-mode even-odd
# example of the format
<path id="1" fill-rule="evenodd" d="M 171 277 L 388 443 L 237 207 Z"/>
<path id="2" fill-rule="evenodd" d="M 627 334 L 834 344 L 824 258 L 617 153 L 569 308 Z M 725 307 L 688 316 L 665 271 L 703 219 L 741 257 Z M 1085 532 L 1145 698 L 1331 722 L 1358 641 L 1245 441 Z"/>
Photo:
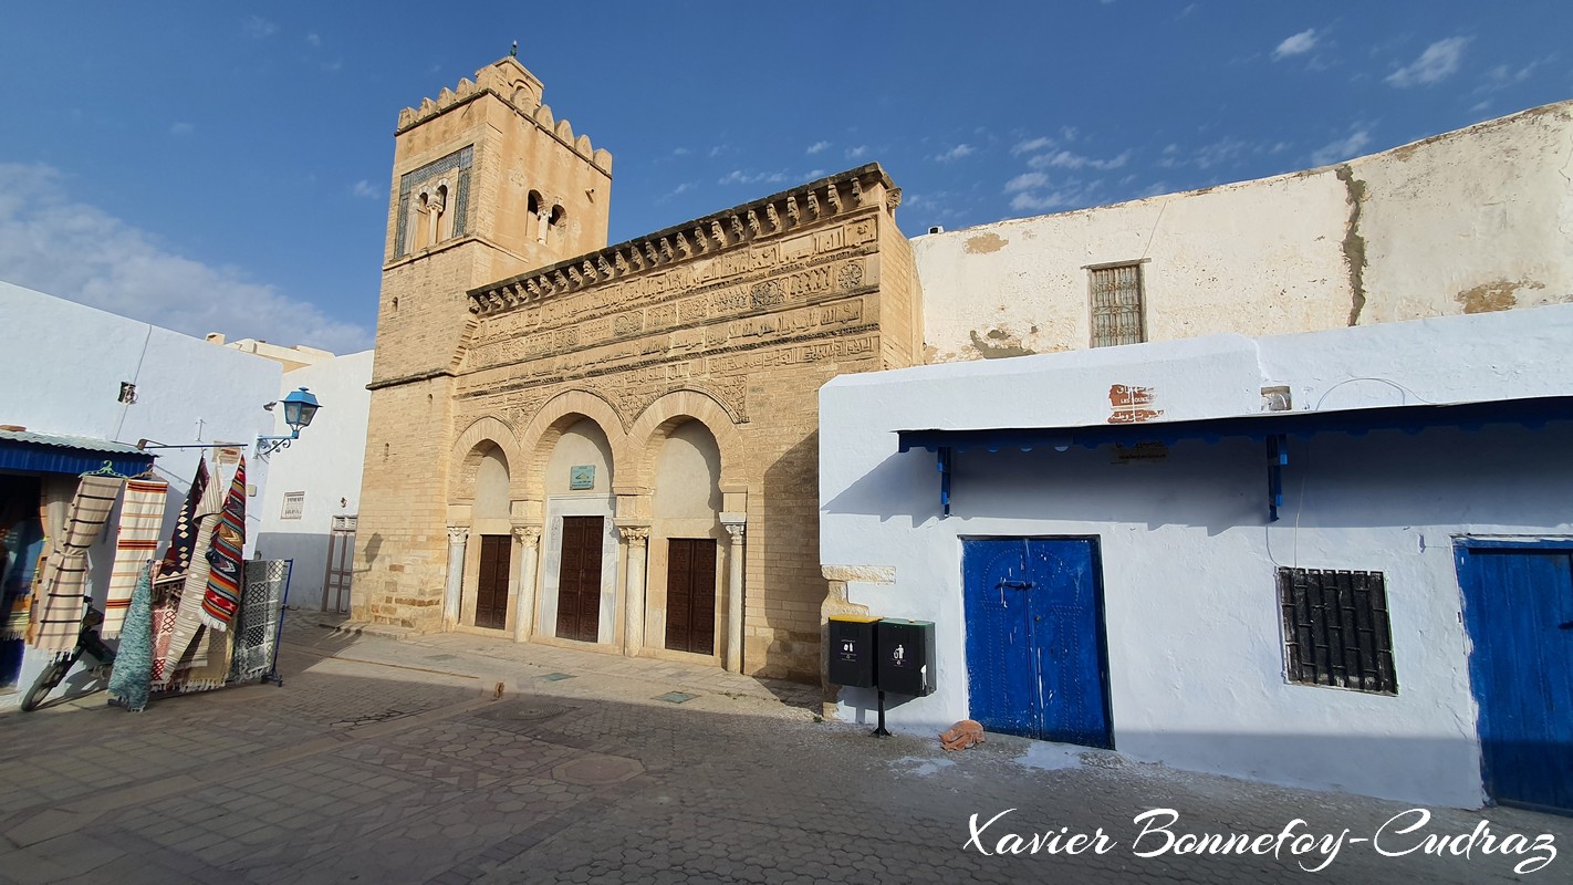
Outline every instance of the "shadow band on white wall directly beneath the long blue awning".
<path id="1" fill-rule="evenodd" d="M 1302 528 L 1381 528 L 1471 520 L 1559 525 L 1565 503 L 1548 486 L 1573 470 L 1526 453 L 1573 450 L 1573 424 L 1540 431 L 1433 429 L 1419 435 L 1290 437 L 1284 508 Z M 892 450 L 895 439 L 890 440 Z M 1263 443 L 1227 439 L 1177 442 L 1162 457 L 1120 462 L 1109 445 L 1087 450 L 967 450 L 955 454 L 952 517 L 1181 525 L 1219 534 L 1265 525 Z M 829 514 L 867 514 L 920 525 L 939 516 L 934 453 L 892 453 L 831 498 Z"/>

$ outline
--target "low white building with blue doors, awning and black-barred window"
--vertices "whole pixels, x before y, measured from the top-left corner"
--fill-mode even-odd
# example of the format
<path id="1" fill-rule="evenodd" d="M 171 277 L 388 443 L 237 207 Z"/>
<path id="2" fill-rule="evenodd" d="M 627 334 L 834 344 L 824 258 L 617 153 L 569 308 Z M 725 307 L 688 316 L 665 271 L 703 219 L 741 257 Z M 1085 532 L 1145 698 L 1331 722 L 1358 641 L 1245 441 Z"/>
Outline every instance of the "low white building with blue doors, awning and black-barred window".
<path id="1" fill-rule="evenodd" d="M 838 377 L 826 615 L 934 622 L 892 728 L 1573 806 L 1570 344 L 1557 305 Z"/>

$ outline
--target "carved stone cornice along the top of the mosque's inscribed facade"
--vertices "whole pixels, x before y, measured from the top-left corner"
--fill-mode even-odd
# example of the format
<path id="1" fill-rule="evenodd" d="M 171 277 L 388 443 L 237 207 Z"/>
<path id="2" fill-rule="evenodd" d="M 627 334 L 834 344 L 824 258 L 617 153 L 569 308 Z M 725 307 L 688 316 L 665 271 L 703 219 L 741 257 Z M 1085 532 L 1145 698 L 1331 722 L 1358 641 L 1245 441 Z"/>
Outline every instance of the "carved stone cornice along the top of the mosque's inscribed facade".
<path id="1" fill-rule="evenodd" d="M 705 215 L 609 245 L 599 252 L 508 277 L 469 291 L 470 313 L 492 316 L 547 299 L 590 289 L 613 280 L 738 252 L 755 242 L 786 241 L 804 228 L 837 217 L 868 214 L 876 207 L 893 212 L 901 190 L 878 163 L 823 178 L 724 212 Z"/>

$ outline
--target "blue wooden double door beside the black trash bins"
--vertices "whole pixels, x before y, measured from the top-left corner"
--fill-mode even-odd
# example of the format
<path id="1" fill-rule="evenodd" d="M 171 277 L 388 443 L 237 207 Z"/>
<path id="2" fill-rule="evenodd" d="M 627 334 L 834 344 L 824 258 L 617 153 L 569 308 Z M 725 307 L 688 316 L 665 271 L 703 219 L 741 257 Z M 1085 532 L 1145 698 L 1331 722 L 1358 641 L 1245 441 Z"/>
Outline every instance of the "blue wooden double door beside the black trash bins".
<path id="1" fill-rule="evenodd" d="M 1112 747 L 1096 541 L 963 541 L 971 715 L 989 731 Z"/>

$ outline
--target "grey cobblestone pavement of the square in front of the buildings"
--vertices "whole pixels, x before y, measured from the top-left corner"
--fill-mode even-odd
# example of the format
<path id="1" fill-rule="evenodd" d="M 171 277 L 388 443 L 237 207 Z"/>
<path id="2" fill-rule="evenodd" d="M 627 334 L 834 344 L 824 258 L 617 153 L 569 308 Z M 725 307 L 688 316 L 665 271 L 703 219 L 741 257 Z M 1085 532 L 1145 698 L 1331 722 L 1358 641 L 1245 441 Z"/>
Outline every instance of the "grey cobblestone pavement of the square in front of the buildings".
<path id="1" fill-rule="evenodd" d="M 991 737 L 947 755 L 815 722 L 818 690 L 713 668 L 445 633 L 387 638 L 291 613 L 285 687 L 104 695 L 0 715 L 0 882 L 1567 882 L 1573 855 L 1468 857 L 1370 843 L 1409 806 L 1173 772 Z M 675 693 L 675 695 L 673 695 Z M 500 696 L 499 696 L 500 695 Z M 670 698 L 670 700 L 662 700 Z M 687 700 L 683 700 L 687 698 Z M 681 703 L 673 703 L 681 701 Z M 1194 855 L 1180 833 L 1350 830 L 1326 854 Z M 985 822 L 1005 813 L 993 825 Z M 1430 810 L 1424 836 L 1573 821 Z M 969 847 L 969 817 L 982 838 Z M 1010 833 L 1106 852 L 1022 854 Z M 1276 844 L 1276 843 L 1274 843 Z M 1501 843 L 1499 843 L 1501 844 Z M 982 846 L 988 854 L 978 850 Z M 1461 844 L 1460 844 L 1461 850 Z"/>

